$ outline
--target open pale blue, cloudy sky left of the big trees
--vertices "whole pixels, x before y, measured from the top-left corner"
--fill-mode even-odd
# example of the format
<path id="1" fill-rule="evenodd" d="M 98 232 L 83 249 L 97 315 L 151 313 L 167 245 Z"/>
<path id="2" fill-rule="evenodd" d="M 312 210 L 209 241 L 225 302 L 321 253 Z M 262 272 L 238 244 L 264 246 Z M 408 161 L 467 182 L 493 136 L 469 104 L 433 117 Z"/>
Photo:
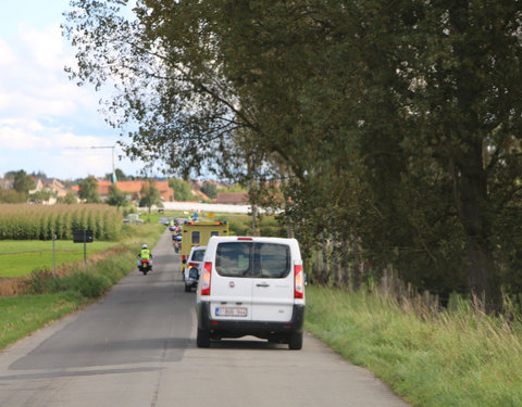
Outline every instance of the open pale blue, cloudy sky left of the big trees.
<path id="1" fill-rule="evenodd" d="M 64 66 L 74 49 L 61 35 L 70 0 L 0 0 L 0 176 L 42 171 L 59 179 L 103 177 L 115 167 L 139 175 L 116 145 L 120 130 L 99 113 L 100 94 L 77 87 Z"/>

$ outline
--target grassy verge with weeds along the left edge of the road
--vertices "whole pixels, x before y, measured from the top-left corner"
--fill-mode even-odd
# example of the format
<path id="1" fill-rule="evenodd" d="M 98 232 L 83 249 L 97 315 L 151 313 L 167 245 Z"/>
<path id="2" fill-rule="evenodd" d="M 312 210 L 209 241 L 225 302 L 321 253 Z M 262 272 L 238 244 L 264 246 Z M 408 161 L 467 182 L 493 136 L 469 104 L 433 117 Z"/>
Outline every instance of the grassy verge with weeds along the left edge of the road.
<path id="1" fill-rule="evenodd" d="M 0 297 L 0 351 L 42 326 L 60 319 L 103 295 L 136 267 L 141 243 L 154 246 L 164 227 L 127 227 L 124 240 L 104 254 L 75 264 L 63 276 L 52 271 L 33 272 L 25 282 L 27 294 Z"/>

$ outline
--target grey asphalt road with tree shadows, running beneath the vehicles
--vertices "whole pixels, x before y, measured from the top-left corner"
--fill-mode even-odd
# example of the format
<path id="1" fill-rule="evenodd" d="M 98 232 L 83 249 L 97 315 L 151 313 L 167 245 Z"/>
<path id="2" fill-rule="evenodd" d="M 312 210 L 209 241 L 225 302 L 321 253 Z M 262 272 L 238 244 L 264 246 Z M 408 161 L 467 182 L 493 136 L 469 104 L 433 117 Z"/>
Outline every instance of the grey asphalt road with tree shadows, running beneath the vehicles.
<path id="1" fill-rule="evenodd" d="M 250 336 L 197 348 L 169 232 L 152 253 L 148 276 L 0 354 L 0 406 L 408 406 L 309 334 L 302 351 Z"/>

